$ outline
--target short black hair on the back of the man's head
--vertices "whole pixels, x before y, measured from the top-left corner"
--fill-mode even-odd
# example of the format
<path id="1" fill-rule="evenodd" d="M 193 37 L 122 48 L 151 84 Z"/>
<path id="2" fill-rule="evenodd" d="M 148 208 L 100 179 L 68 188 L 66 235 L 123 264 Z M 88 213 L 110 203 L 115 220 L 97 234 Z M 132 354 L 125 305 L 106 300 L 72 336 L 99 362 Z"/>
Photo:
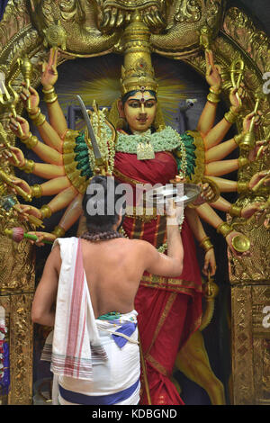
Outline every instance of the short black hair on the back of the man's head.
<path id="1" fill-rule="evenodd" d="M 86 227 L 89 232 L 110 231 L 112 226 L 117 223 L 119 213 L 115 206 L 117 201 L 123 196 L 123 193 L 115 193 L 119 184 L 120 182 L 111 176 L 97 175 L 92 178 L 82 202 Z M 123 203 L 122 207 L 124 211 L 125 203 Z M 91 212 L 89 213 L 90 210 Z M 96 214 L 93 214 L 94 210 L 97 211 Z M 102 212 L 98 213 L 99 210 Z M 123 212 L 122 214 L 124 215 Z M 123 217 L 121 223 L 122 221 Z"/>

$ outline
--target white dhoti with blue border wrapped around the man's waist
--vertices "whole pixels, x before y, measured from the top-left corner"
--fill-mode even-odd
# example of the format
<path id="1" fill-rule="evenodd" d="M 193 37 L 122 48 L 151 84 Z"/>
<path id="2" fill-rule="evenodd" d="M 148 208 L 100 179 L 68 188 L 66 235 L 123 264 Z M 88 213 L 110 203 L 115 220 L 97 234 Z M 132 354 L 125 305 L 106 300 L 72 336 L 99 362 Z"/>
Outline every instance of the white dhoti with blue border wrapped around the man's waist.
<path id="1" fill-rule="evenodd" d="M 80 401 L 77 403 L 85 401 L 89 405 L 136 405 L 139 403 L 138 329 L 134 330 L 123 347 L 119 347 L 111 333 L 111 331 L 115 332 L 115 330 L 124 328 L 129 321 L 137 326 L 136 316 L 136 311 L 123 314 L 120 318 L 120 324 L 112 323 L 112 320 L 95 320 L 101 345 L 106 351 L 108 360 L 93 365 L 92 382 L 60 376 L 58 378 L 60 386 L 58 402 L 60 404 L 75 404 L 75 402 L 67 401 L 67 399 Z M 110 330 L 110 332 L 103 329 Z M 121 339 L 126 340 L 126 338 Z M 65 391 L 61 388 L 64 388 Z M 67 391 L 72 393 L 69 394 Z M 74 395 L 73 392 L 79 392 L 85 397 Z"/>

